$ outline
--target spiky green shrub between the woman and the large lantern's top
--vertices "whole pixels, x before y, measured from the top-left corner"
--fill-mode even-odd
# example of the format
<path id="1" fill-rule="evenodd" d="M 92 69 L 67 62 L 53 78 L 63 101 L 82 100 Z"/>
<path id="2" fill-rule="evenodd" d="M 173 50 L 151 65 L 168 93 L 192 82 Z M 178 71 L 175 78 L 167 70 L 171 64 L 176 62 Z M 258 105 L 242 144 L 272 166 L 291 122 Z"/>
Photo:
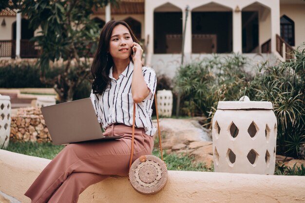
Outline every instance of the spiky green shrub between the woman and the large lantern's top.
<path id="1" fill-rule="evenodd" d="M 181 95 L 182 113 L 210 117 L 209 123 L 218 101 L 236 101 L 243 95 L 241 89 L 251 79 L 244 71 L 247 63 L 241 55 L 213 55 L 181 66 L 175 78 L 175 91 Z"/>

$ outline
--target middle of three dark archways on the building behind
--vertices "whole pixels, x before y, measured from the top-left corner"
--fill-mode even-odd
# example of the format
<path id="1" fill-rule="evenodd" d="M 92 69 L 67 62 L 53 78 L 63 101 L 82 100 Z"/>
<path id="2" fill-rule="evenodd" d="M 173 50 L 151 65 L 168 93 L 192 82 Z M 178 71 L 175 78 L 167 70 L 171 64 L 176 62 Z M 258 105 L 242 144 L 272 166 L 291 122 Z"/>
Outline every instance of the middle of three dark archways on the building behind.
<path id="1" fill-rule="evenodd" d="M 232 9 L 210 2 L 191 11 L 192 53 L 232 52 Z"/>

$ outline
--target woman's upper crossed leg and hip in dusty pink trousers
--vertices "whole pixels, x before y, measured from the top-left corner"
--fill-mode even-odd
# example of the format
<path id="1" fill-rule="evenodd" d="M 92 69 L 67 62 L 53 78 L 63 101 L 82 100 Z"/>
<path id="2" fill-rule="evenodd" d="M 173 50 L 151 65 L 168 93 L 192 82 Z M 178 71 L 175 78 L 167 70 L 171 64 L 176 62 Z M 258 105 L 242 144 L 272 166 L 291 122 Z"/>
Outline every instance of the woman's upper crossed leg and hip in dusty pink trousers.
<path id="1" fill-rule="evenodd" d="M 143 129 L 135 130 L 133 160 L 152 152 L 152 137 L 143 132 Z M 114 141 L 67 145 L 40 173 L 25 195 L 31 198 L 32 203 L 45 203 L 70 174 L 75 172 L 126 176 L 132 128 L 117 125 L 108 128 L 104 134 L 125 137 Z"/>

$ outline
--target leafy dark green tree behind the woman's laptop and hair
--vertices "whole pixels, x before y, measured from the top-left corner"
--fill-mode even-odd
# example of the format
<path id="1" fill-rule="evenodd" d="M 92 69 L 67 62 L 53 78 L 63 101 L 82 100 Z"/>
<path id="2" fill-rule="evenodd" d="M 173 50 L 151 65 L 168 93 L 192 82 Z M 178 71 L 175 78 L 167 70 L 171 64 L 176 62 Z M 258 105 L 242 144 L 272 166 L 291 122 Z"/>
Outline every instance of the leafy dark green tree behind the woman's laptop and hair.
<path id="1" fill-rule="evenodd" d="M 30 27 L 41 31 L 36 41 L 40 81 L 54 87 L 60 102 L 71 101 L 77 87 L 90 75 L 90 60 L 97 46 L 99 27 L 90 19 L 94 9 L 117 0 L 4 0 L 0 9 L 18 8 L 27 16 Z M 45 77 L 50 61 L 62 60 L 63 73 Z"/>

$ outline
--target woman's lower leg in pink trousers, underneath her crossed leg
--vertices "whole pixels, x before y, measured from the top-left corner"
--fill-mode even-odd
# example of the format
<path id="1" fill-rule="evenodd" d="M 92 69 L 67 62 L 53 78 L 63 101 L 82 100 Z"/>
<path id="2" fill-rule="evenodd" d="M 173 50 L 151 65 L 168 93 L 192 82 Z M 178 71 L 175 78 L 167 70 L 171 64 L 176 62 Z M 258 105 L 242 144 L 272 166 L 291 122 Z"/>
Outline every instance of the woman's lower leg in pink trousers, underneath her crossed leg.
<path id="1" fill-rule="evenodd" d="M 48 203 L 77 203 L 78 195 L 87 187 L 106 179 L 108 175 L 75 172 L 68 176 Z"/>

